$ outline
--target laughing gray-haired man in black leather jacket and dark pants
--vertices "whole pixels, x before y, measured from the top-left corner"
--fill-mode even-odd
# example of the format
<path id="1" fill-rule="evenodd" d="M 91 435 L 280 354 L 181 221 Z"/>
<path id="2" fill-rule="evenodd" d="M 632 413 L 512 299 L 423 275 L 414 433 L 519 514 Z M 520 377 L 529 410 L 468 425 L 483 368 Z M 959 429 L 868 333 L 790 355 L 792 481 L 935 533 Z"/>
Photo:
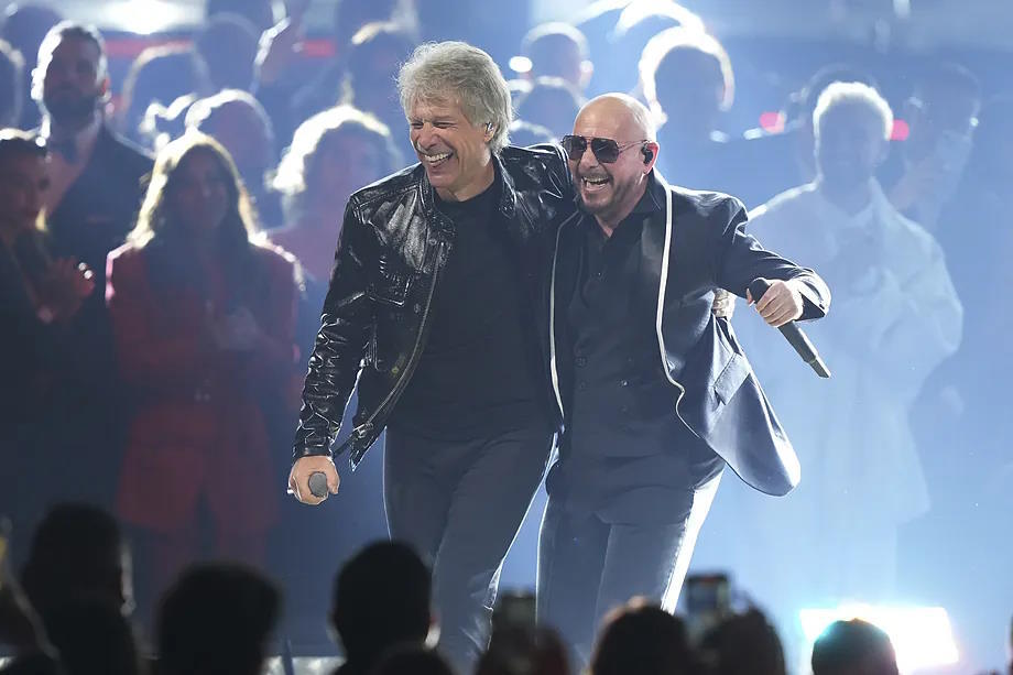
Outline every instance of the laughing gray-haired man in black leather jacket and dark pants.
<path id="1" fill-rule="evenodd" d="M 506 145 L 510 91 L 481 50 L 422 45 L 397 85 L 420 163 L 348 202 L 290 488 L 320 503 L 311 476 L 337 493 L 333 456 L 355 468 L 388 429 L 390 533 L 432 564 L 440 646 L 467 673 L 558 426 L 538 337 L 574 192 L 558 148 Z M 331 451 L 355 387 L 355 431 Z"/>

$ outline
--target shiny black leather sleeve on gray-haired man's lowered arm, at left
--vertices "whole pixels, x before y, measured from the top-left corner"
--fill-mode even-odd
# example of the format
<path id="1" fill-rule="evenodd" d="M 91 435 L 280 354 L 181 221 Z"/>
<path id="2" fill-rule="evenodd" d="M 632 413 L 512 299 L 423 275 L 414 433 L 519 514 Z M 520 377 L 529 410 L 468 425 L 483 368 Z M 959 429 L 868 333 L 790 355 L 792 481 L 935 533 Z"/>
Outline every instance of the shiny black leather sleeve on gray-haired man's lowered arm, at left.
<path id="1" fill-rule="evenodd" d="M 368 252 L 372 246 L 369 227 L 359 220 L 350 200 L 324 301 L 320 330 L 303 385 L 293 461 L 308 455 L 330 455 L 341 426 L 372 325 L 372 304 L 366 293 L 367 270 L 362 263 L 373 259 Z"/>

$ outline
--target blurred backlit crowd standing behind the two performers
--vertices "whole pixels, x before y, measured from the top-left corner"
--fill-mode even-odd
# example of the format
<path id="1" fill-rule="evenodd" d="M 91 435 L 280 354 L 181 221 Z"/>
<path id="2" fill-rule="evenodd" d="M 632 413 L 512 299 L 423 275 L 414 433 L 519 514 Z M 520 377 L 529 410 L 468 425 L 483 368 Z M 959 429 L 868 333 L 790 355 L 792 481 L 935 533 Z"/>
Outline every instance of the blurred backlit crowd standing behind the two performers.
<path id="1" fill-rule="evenodd" d="M 196 627 L 233 622 L 230 592 L 252 603 L 252 623 L 236 629 L 249 632 L 216 651 L 253 669 L 277 621 L 277 591 L 246 568 L 181 571 L 209 557 L 240 560 L 277 573 L 290 602 L 318 610 L 319 580 L 384 529 L 375 461 L 342 485 L 338 514 L 285 499 L 299 387 L 348 196 L 416 161 L 394 89 L 400 64 L 423 40 L 484 45 L 453 3 L 342 0 L 333 54 L 311 58 L 294 4 L 281 17 L 266 1 L 208 0 L 188 40 L 145 48 L 122 81 L 110 79 L 104 36 L 55 7 L 12 4 L 2 24 L 0 513 L 19 544 L 36 532 L 32 551 L 15 546 L 12 557 L 28 564 L 22 580 L 50 638 L 63 635 L 83 660 L 123 660 L 107 669 L 134 672 L 123 614 L 81 600 L 51 616 L 63 587 L 28 570 L 40 555 L 55 556 L 45 565 L 59 574 L 89 567 L 68 566 L 80 553 L 59 547 L 119 542 L 119 531 L 85 541 L 72 526 L 46 538 L 36 527 L 54 503 L 99 505 L 127 529 L 142 623 L 156 623 L 156 598 L 168 589 L 152 633 L 163 655 L 209 657 L 186 651 L 205 649 L 188 642 L 206 639 Z M 500 14 L 503 25 L 516 22 L 505 4 L 488 11 L 490 25 Z M 948 575 L 1000 579 L 1011 562 L 1006 548 L 960 555 L 990 549 L 1011 505 L 1013 428 L 1002 403 L 1013 377 L 1003 348 L 1013 328 L 1004 293 L 1013 287 L 1009 83 L 976 74 L 959 55 L 897 65 L 807 53 L 810 72 L 799 78 L 796 64 L 798 81 L 784 77 L 782 109 L 747 129 L 730 120 L 737 88 L 752 85 L 734 74 L 719 36 L 675 3 L 595 3 L 567 23 L 529 28 L 516 72 L 503 65 L 514 144 L 556 141 L 589 97 L 629 91 L 662 122 L 665 179 L 741 198 L 761 241 L 818 261 L 835 294 L 812 336 L 835 371 L 829 383 L 786 366 L 793 355 L 754 317 L 732 319 L 783 411 L 804 478 L 793 497 L 762 503 L 726 485 L 731 494 L 715 507 L 698 562 L 734 569 L 788 633 L 806 602 L 891 601 L 913 587 L 951 589 L 940 596 L 958 607 L 962 598 L 967 614 L 1007 612 L 1002 592 Z M 100 525 L 97 513 L 87 518 Z M 334 533 L 328 555 L 307 562 L 323 533 Z M 799 540 L 809 545 L 798 549 Z M 110 551 L 101 564 L 119 559 Z M 394 555 L 361 555 L 370 552 Z M 913 580 L 898 574 L 905 555 L 937 564 L 917 565 L 928 571 Z M 80 574 L 92 573 L 105 570 Z M 415 576 L 421 585 L 425 575 Z M 372 584 L 370 592 L 383 592 Z M 207 589 L 222 597 L 200 600 Z M 216 605 L 229 609 L 207 613 Z M 351 640 L 368 646 L 353 656 L 341 606 L 336 598 L 331 623 L 346 667 L 367 672 L 382 650 L 369 643 L 375 635 L 359 635 Z M 417 634 L 402 638 L 421 644 L 427 613 L 390 612 L 417 619 Z M 95 641 L 69 629 L 81 623 Z M 629 672 L 623 654 L 636 649 L 651 654 L 644 663 L 656 660 L 645 673 L 690 672 L 708 658 L 715 672 L 747 672 L 722 661 L 734 655 L 728 645 L 776 642 L 755 634 L 771 629 L 754 614 L 722 630 L 701 643 L 709 651 L 690 647 L 678 620 L 631 606 L 604 629 L 592 669 Z M 836 640 L 886 653 L 871 628 L 828 635 L 830 662 L 848 652 Z M 565 672 L 551 636 L 519 640 L 532 672 Z M 497 661 L 502 644 L 493 641 L 488 672 L 508 672 Z M 400 657 L 446 667 L 411 651 Z M 814 653 L 816 673 L 851 672 L 820 671 L 817 661 Z M 236 667 L 228 672 L 253 672 Z"/>

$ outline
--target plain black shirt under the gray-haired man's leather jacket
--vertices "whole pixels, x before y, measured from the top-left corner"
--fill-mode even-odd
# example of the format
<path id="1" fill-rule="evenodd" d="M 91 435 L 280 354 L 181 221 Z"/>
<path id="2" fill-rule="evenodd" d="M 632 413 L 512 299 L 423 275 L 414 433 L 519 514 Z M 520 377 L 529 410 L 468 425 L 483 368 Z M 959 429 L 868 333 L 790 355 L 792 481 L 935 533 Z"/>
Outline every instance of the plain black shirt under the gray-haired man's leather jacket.
<path id="1" fill-rule="evenodd" d="M 533 306 L 499 209 L 501 190 L 497 175 L 471 199 L 436 200 L 456 235 L 438 272 L 425 349 L 392 414 L 395 431 L 470 440 L 552 425 Z"/>

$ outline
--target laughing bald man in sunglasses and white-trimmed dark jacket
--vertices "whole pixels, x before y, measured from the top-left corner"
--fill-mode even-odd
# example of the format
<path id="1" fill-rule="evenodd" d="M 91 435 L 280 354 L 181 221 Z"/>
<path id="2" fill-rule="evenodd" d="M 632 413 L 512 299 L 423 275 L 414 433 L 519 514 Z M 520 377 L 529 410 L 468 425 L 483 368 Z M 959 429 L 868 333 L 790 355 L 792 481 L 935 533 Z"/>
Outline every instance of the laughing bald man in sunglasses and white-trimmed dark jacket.
<path id="1" fill-rule="evenodd" d="M 798 460 L 728 319 L 720 288 L 771 326 L 826 314 L 813 271 L 745 233 L 741 202 L 666 185 L 647 110 L 588 102 L 564 137 L 579 211 L 560 226 L 551 361 L 565 433 L 547 479 L 540 620 L 587 663 L 595 628 L 641 595 L 673 610 L 725 465 L 785 494 Z M 753 303 L 747 286 L 771 281 Z"/>

